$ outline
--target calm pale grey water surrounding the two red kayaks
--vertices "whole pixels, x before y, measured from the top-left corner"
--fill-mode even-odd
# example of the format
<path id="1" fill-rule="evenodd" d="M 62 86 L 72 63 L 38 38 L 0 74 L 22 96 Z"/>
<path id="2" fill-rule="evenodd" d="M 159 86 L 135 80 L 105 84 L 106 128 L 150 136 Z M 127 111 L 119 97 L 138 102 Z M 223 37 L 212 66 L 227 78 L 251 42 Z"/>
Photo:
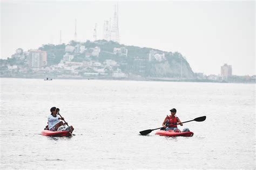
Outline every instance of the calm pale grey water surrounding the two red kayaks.
<path id="1" fill-rule="evenodd" d="M 50 108 L 75 127 L 44 137 Z M 170 108 L 193 137 L 139 135 Z M 1 78 L 0 168 L 255 168 L 255 85 Z"/>

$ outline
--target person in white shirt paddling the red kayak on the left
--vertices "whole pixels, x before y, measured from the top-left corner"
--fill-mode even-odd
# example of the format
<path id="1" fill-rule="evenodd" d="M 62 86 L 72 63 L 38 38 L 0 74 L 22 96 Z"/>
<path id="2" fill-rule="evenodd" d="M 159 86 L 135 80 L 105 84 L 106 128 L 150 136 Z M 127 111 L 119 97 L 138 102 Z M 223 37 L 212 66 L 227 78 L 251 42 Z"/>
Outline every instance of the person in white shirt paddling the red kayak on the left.
<path id="1" fill-rule="evenodd" d="M 57 131 L 60 126 L 65 125 L 63 121 L 60 121 L 60 120 L 64 120 L 64 118 L 60 118 L 57 115 L 56 107 L 52 107 L 50 111 L 51 111 L 51 114 L 48 116 L 48 128 L 50 131 Z M 73 130 L 74 130 L 73 126 L 70 126 L 71 133 L 73 132 Z"/>

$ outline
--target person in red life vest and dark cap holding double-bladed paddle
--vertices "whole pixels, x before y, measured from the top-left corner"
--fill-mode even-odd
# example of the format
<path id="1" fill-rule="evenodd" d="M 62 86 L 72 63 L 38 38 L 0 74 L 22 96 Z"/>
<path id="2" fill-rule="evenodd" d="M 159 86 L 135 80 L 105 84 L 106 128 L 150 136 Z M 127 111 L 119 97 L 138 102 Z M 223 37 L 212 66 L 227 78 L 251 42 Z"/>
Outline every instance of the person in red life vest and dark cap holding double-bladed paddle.
<path id="1" fill-rule="evenodd" d="M 162 126 L 165 128 L 165 131 L 174 131 L 174 132 L 181 132 L 177 125 L 183 126 L 183 124 L 180 124 L 181 121 L 178 117 L 176 117 L 176 108 L 172 108 L 171 115 L 167 115 L 167 117 L 164 119 L 164 122 Z"/>

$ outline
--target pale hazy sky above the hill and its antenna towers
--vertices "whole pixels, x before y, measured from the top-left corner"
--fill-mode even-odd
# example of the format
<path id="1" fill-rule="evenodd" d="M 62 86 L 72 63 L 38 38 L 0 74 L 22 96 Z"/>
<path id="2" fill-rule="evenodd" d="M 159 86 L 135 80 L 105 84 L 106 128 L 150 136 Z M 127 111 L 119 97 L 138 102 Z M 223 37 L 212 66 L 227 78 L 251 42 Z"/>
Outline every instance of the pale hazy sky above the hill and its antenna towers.
<path id="1" fill-rule="evenodd" d="M 1 1 L 1 58 L 21 47 L 103 38 L 104 20 L 113 18 L 116 2 Z M 120 43 L 178 51 L 194 72 L 220 74 L 224 63 L 233 74 L 255 74 L 254 1 L 120 1 Z"/>

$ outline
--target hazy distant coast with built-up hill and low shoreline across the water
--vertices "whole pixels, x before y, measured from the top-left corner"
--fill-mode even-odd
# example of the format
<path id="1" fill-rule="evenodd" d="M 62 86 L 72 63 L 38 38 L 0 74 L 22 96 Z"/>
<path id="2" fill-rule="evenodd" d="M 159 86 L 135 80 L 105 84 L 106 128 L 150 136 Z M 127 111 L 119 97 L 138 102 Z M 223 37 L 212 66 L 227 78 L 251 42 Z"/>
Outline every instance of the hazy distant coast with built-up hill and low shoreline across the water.
<path id="1" fill-rule="evenodd" d="M 129 49 L 129 53 L 127 53 L 127 57 L 123 57 L 122 55 L 126 55 L 127 49 Z M 149 57 L 152 57 L 151 61 Z M 164 57 L 165 59 L 161 63 L 158 62 Z M 39 50 L 23 51 L 17 49 L 11 59 L 0 61 L 0 73 L 2 77 L 21 78 L 45 78 L 45 75 L 47 75 L 51 78 L 75 79 L 184 80 L 216 83 L 256 82 L 255 75 L 233 75 L 232 66 L 227 64 L 221 66 L 221 76 L 220 74 L 218 76 L 213 74 L 206 76 L 204 73 L 194 73 L 190 65 L 183 62 L 184 59 L 185 57 L 178 52 L 172 53 L 151 48 L 117 45 L 106 40 L 86 43 L 72 41 L 70 44 L 46 44 L 40 47 Z M 44 66 L 46 63 L 47 66 Z M 179 74 L 180 67 L 183 70 L 182 77 Z"/>

